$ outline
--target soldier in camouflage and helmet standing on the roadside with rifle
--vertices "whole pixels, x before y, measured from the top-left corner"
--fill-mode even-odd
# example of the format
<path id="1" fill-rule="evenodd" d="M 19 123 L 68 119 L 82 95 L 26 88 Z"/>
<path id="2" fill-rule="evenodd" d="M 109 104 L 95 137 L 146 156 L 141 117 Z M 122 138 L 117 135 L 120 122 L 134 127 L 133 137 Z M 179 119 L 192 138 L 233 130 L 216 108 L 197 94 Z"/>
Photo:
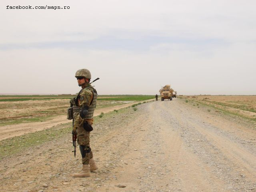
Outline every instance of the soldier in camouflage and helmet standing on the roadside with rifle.
<path id="1" fill-rule="evenodd" d="M 74 173 L 73 176 L 89 177 L 90 171 L 98 169 L 90 148 L 90 131 L 92 131 L 93 114 L 98 94 L 90 84 L 91 73 L 89 70 L 80 69 L 76 72 L 75 77 L 78 86 L 82 89 L 75 98 L 70 100 L 73 104 L 72 134 L 77 134 L 83 167 L 81 172 Z"/>

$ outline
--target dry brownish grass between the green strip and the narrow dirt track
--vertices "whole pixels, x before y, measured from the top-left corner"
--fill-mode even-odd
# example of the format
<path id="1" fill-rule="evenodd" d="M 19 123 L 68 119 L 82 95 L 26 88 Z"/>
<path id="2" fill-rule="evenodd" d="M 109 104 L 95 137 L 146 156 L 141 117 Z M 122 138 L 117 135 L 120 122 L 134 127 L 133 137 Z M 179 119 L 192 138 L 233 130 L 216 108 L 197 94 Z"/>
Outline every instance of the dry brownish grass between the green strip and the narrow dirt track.
<path id="1" fill-rule="evenodd" d="M 70 99 L 23 100 L 0 102 L 0 126 L 22 122 L 44 121 L 66 114 Z M 125 102 L 97 101 L 97 109 Z"/>

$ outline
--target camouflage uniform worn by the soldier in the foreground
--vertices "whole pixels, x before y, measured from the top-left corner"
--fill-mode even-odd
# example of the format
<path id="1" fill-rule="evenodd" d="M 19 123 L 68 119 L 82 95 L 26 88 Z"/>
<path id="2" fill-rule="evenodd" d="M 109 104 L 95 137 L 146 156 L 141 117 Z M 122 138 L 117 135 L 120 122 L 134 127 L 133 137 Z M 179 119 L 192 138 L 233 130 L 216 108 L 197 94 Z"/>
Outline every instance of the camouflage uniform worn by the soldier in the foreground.
<path id="1" fill-rule="evenodd" d="M 74 98 L 75 106 L 82 109 L 88 106 L 88 113 L 84 118 L 81 118 L 79 111 L 74 112 L 74 130 L 77 132 L 77 142 L 80 145 L 82 154 L 82 164 L 89 164 L 90 158 L 93 157 L 90 149 L 90 132 L 84 129 L 84 124 L 93 124 L 93 114 L 96 107 L 97 91 L 89 84 L 85 84 L 82 90 Z"/>

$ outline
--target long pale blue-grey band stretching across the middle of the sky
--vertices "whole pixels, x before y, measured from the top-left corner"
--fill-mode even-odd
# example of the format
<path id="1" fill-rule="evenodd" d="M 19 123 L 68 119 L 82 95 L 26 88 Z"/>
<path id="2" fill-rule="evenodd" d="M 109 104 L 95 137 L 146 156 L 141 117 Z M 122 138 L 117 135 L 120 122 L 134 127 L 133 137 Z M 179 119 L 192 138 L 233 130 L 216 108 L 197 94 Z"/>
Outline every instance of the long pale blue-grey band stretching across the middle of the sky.
<path id="1" fill-rule="evenodd" d="M 80 34 L 80 33 L 76 33 Z M 122 37 L 118 37 L 118 34 Z M 221 39 L 204 38 L 181 38 L 171 36 L 140 36 L 125 37 L 125 32 L 113 32 L 111 36 L 104 36 L 93 40 L 81 41 L 56 41 L 56 42 L 35 42 L 18 44 L 0 44 L 0 50 L 12 49 L 93 49 L 93 50 L 129 50 L 133 52 L 143 51 L 168 51 L 168 50 L 193 50 L 200 51 L 206 48 L 226 46 L 228 42 Z M 139 33 L 138 33 L 139 34 Z M 210 49 L 211 49 L 210 48 Z"/>

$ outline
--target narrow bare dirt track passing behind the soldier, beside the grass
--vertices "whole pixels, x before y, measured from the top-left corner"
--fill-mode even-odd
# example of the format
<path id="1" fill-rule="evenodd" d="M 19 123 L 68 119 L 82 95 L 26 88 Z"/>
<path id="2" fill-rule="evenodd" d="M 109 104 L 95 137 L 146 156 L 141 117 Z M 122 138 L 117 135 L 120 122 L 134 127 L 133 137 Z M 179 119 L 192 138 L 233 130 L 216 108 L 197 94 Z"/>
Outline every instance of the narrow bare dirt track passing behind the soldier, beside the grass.
<path id="1" fill-rule="evenodd" d="M 147 102 L 148 101 L 152 101 L 152 99 L 147 100 Z M 119 110 L 121 108 L 126 108 L 128 106 L 132 106 L 133 104 L 137 104 L 137 103 L 138 102 L 132 102 L 132 103 L 122 104 L 122 105 L 118 105 L 118 106 L 114 106 L 114 107 L 96 109 L 94 112 L 94 116 L 98 116 L 102 112 L 107 113 L 107 112 L 111 112 L 114 110 Z M 14 136 L 20 136 L 20 135 L 30 133 L 30 132 L 36 132 L 36 131 L 48 129 L 53 126 L 65 124 L 68 122 L 71 122 L 71 120 L 67 120 L 66 115 L 61 115 L 61 116 L 56 116 L 55 118 L 53 118 L 51 120 L 44 121 L 44 122 L 32 122 L 32 123 L 21 123 L 21 124 L 0 126 L 0 140 L 12 138 Z"/>

